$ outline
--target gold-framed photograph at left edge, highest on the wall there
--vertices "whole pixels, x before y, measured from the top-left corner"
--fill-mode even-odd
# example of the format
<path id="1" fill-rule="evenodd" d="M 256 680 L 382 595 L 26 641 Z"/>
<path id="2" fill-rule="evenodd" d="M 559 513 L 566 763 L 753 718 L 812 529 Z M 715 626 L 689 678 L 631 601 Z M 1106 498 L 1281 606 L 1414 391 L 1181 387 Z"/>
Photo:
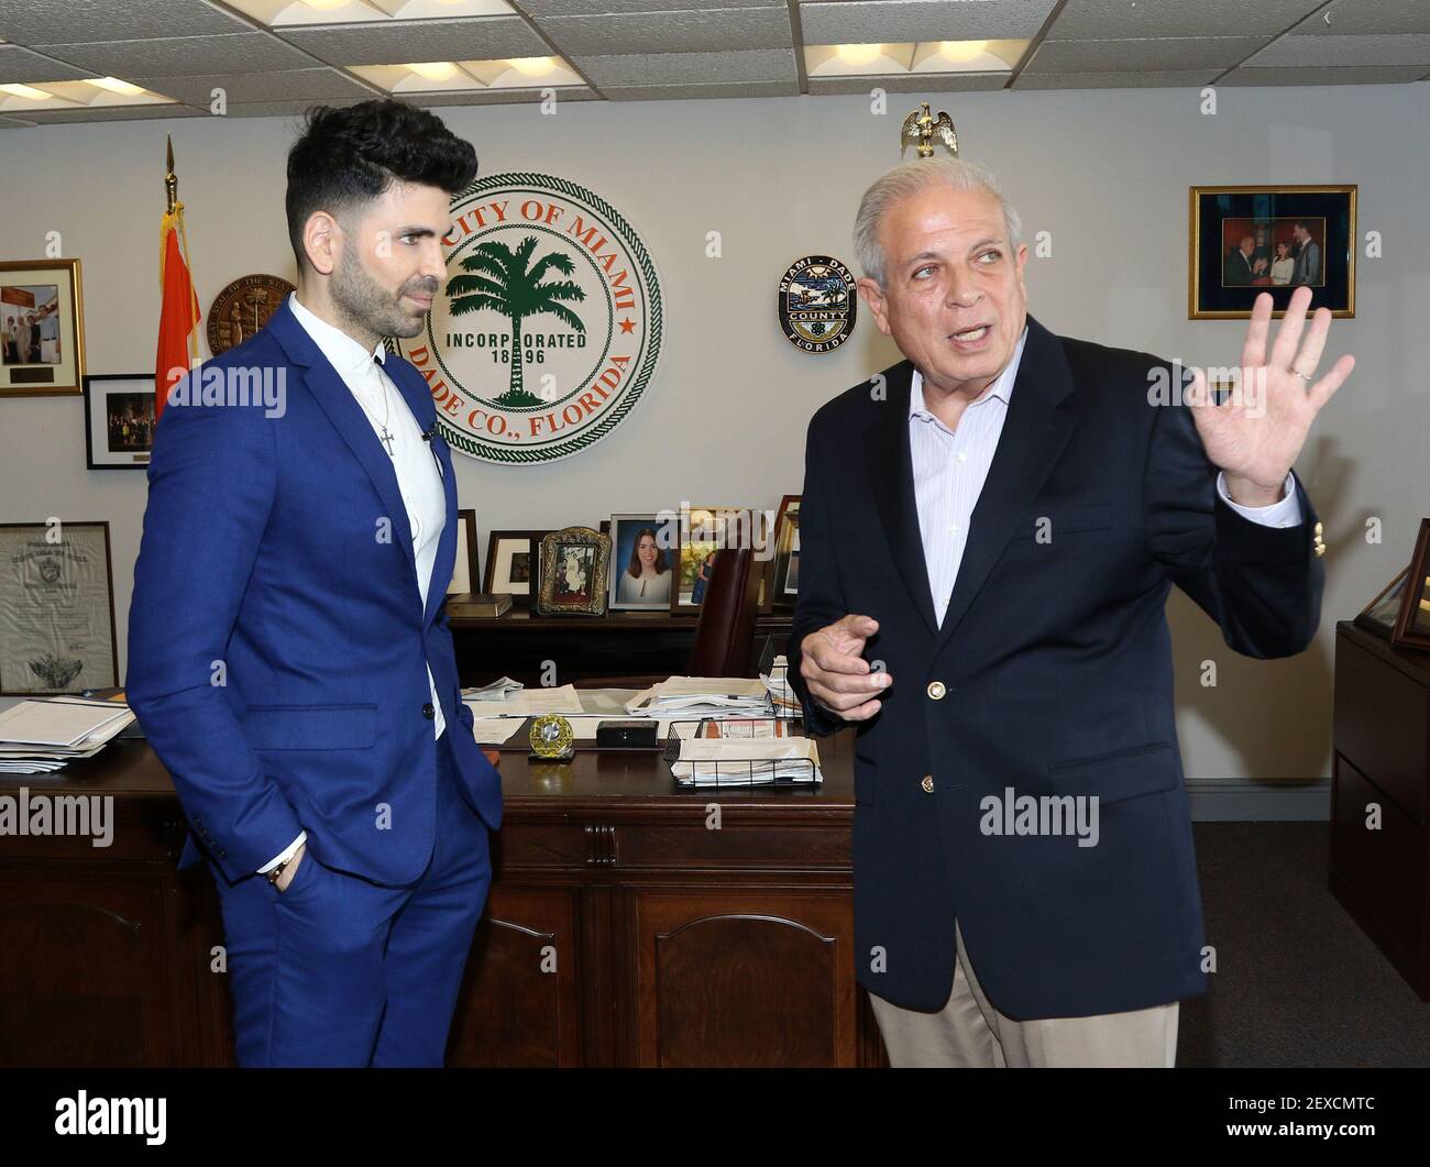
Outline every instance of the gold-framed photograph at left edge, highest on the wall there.
<path id="1" fill-rule="evenodd" d="M 80 262 L 0 263 L 0 396 L 76 396 L 83 386 Z"/>

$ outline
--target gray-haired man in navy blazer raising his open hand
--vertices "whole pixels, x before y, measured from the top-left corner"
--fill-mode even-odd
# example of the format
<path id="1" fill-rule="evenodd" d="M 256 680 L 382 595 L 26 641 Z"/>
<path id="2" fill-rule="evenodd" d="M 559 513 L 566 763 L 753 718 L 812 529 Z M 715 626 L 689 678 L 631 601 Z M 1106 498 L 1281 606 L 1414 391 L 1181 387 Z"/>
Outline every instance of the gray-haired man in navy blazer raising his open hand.
<path id="1" fill-rule="evenodd" d="M 1250 656 L 1303 651 L 1321 526 L 1291 463 L 1350 373 L 1298 289 L 1240 393 L 1027 315 L 982 167 L 865 193 L 859 292 L 908 358 L 809 425 L 789 676 L 852 724 L 858 980 L 895 1065 L 1171 1065 L 1205 937 L 1171 585 Z M 1218 473 L 1220 471 L 1220 473 Z"/>

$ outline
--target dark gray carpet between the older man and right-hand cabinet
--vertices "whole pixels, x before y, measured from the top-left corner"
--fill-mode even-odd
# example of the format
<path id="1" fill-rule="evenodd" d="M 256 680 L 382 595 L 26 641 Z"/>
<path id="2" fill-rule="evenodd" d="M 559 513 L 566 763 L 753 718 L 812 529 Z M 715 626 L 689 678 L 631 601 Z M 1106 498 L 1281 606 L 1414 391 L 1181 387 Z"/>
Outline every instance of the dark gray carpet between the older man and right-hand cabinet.
<path id="1" fill-rule="evenodd" d="M 1326 885 L 1326 822 L 1197 822 L 1211 991 L 1178 1065 L 1430 1065 L 1421 1001 Z"/>

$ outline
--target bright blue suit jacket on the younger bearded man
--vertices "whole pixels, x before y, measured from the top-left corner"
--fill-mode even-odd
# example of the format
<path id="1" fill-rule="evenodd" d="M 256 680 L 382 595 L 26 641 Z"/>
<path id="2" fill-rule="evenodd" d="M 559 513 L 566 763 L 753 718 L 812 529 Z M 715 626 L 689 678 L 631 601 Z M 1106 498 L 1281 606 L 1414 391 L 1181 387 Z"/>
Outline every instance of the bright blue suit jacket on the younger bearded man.
<path id="1" fill-rule="evenodd" d="M 396 356 L 386 369 L 429 429 L 422 375 Z M 199 402 L 233 370 L 282 378 L 282 416 Z M 197 837 L 233 882 L 306 829 L 323 864 L 410 882 L 435 838 L 428 665 L 470 804 L 492 829 L 502 812 L 438 616 L 456 556 L 450 450 L 432 439 L 446 526 L 423 609 L 393 463 L 286 302 L 190 385 L 154 432 L 127 675 L 192 828 L 180 867 Z"/>

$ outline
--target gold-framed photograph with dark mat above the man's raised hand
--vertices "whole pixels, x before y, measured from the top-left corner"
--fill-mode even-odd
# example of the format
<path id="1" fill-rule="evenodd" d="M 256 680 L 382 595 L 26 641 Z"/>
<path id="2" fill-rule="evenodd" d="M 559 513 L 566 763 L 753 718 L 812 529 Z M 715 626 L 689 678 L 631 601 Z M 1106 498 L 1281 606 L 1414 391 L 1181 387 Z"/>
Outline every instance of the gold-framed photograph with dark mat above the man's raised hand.
<path id="1" fill-rule="evenodd" d="M 1311 289 L 1311 310 L 1356 315 L 1356 186 L 1194 186 L 1187 316 L 1246 320 L 1261 292 L 1271 315 Z"/>

